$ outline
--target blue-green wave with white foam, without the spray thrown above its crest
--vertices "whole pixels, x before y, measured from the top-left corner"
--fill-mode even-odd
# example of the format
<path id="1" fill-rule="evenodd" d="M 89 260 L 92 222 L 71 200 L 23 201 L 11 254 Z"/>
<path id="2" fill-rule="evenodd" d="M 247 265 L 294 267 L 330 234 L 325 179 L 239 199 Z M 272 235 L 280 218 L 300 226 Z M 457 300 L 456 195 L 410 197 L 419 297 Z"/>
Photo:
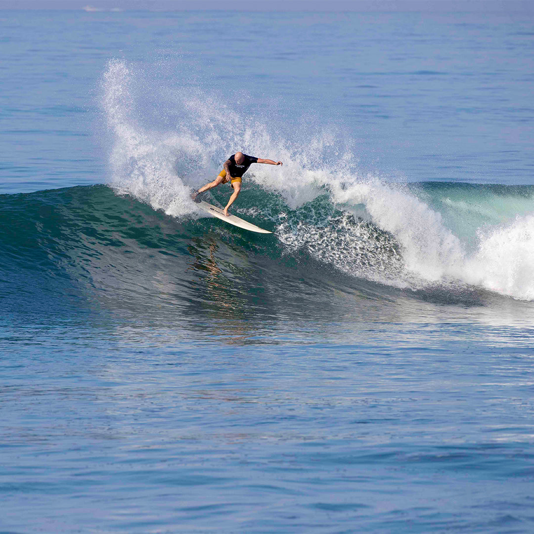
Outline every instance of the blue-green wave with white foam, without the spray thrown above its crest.
<path id="1" fill-rule="evenodd" d="M 534 188 L 334 185 L 292 208 L 251 175 L 236 211 L 273 235 L 202 217 L 185 194 L 180 217 L 106 185 L 2 195 L 4 312 L 199 324 L 221 312 L 334 320 L 355 295 L 411 301 L 403 313 L 534 300 Z"/>

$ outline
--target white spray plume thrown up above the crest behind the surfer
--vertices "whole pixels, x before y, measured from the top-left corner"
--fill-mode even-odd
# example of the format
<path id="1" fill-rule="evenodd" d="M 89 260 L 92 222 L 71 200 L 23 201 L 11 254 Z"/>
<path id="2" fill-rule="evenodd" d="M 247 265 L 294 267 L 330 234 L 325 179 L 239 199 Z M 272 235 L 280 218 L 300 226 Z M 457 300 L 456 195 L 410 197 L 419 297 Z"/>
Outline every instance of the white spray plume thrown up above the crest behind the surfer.
<path id="1" fill-rule="evenodd" d="M 114 144 L 112 185 L 171 215 L 194 213 L 190 189 L 213 178 L 237 150 L 284 161 L 279 172 L 254 166 L 247 180 L 277 191 L 290 207 L 322 194 L 332 174 L 352 159 L 328 129 L 303 127 L 288 141 L 268 131 L 257 116 L 239 114 L 197 88 L 160 88 L 145 72 L 122 60 L 109 62 L 103 85 Z M 154 103 L 161 104 L 157 113 Z M 172 133 L 142 125 L 161 119 L 168 132 L 172 117 Z"/>

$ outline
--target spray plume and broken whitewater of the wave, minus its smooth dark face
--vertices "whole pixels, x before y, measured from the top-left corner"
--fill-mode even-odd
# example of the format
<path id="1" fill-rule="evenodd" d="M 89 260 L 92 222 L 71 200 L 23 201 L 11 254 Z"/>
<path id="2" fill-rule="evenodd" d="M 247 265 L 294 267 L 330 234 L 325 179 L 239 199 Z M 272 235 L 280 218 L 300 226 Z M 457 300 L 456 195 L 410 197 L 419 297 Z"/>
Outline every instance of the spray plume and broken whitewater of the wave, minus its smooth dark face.
<path id="1" fill-rule="evenodd" d="M 118 60 L 103 77 L 111 187 L 189 225 L 191 238 L 195 224 L 207 224 L 191 191 L 242 150 L 284 161 L 283 168 L 251 167 L 234 205 L 234 213 L 274 231 L 266 256 L 305 254 L 402 290 L 479 288 L 534 300 L 533 187 L 388 183 L 363 175 L 354 146 L 332 130 L 305 123 L 289 140 L 257 115 L 198 90 L 155 88 L 149 78 Z M 219 187 L 210 198 L 224 204 L 227 195 Z"/>

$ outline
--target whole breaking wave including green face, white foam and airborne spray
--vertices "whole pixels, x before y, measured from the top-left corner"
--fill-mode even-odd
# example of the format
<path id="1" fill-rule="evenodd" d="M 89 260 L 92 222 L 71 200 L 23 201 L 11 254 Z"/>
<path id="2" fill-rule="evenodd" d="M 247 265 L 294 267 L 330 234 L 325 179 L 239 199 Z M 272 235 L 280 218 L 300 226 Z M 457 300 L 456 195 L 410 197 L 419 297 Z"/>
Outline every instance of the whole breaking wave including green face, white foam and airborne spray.
<path id="1" fill-rule="evenodd" d="M 258 310 L 337 320 L 355 295 L 362 309 L 403 299 L 414 315 L 422 301 L 534 300 L 534 186 L 363 175 L 333 130 L 303 127 L 287 142 L 258 116 L 154 88 L 121 61 L 101 103 L 109 184 L 0 195 L 5 313 L 179 312 L 202 324 Z M 232 206 L 273 235 L 207 218 L 190 199 L 238 149 L 284 161 L 253 165 Z M 228 196 L 221 186 L 209 200 Z"/>

